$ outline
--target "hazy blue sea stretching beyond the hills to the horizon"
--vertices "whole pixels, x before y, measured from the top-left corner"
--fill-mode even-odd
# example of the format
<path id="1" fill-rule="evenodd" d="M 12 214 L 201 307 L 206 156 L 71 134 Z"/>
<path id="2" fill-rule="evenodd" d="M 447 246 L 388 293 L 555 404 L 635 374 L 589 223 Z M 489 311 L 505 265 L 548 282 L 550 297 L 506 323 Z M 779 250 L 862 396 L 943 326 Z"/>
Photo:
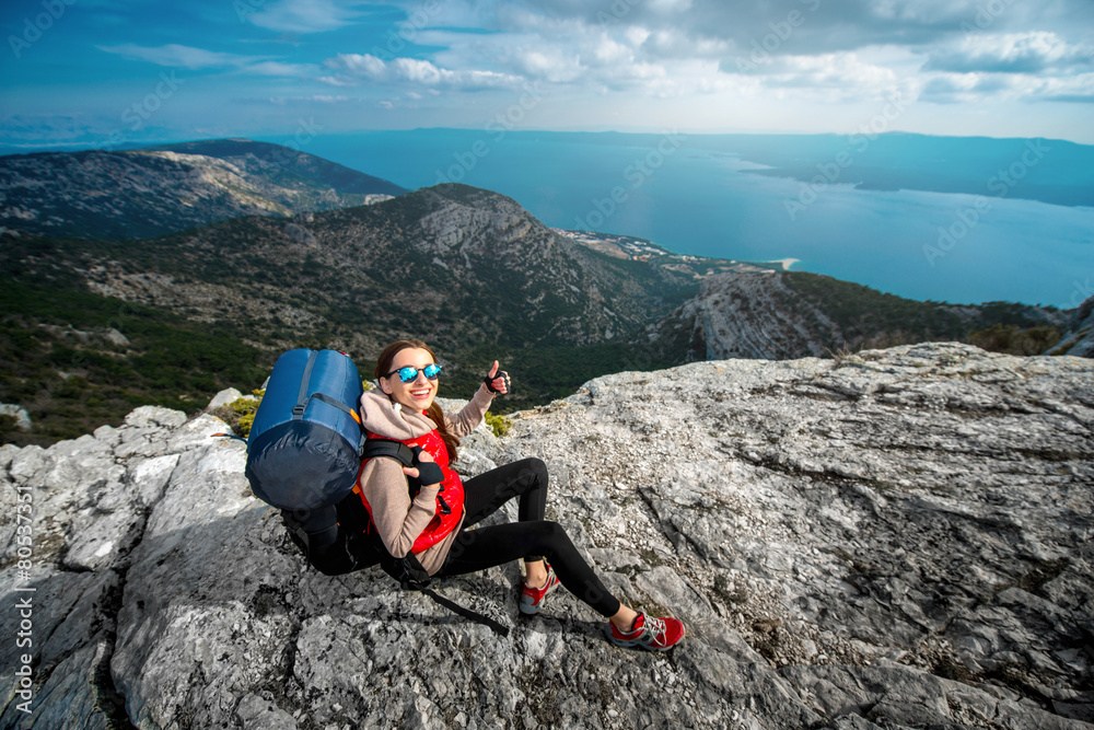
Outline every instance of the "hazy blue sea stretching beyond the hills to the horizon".
<path id="1" fill-rule="evenodd" d="M 551 227 L 795 259 L 911 299 L 1094 296 L 1094 148 L 1058 140 L 422 129 L 300 149 L 410 189 L 494 190 Z"/>

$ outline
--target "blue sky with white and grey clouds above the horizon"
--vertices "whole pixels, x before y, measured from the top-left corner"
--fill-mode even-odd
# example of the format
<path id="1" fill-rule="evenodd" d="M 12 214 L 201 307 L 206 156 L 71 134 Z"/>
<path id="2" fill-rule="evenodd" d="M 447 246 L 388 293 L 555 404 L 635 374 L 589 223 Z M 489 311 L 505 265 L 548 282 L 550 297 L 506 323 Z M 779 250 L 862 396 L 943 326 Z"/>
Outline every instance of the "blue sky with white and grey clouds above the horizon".
<path id="1" fill-rule="evenodd" d="M 1091 0 L 7 0 L 0 27 L 16 148 L 491 124 L 1094 143 Z"/>

